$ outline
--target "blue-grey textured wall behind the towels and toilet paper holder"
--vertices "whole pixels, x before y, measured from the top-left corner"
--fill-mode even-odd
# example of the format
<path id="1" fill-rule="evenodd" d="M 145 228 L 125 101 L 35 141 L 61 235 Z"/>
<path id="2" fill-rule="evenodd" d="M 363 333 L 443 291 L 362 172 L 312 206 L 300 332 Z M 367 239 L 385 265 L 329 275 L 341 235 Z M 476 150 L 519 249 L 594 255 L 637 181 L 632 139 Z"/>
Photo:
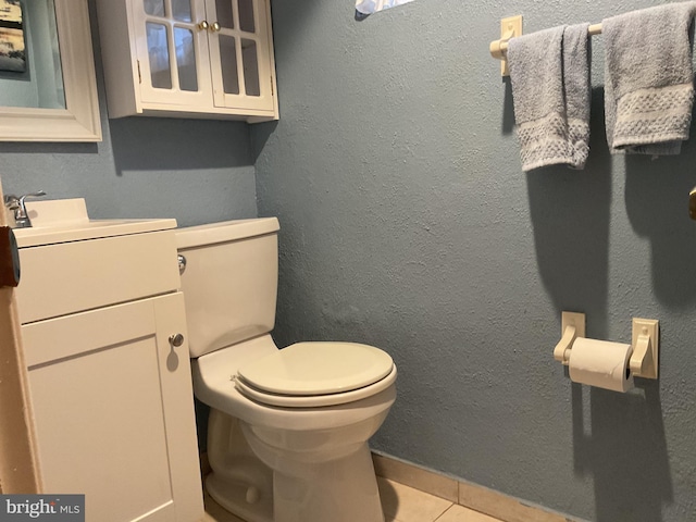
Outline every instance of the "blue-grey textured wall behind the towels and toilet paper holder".
<path id="1" fill-rule="evenodd" d="M 610 156 L 595 37 L 586 170 L 525 175 L 488 54 L 502 16 L 532 32 L 657 3 L 417 0 L 357 22 L 352 0 L 273 1 L 282 117 L 252 140 L 259 213 L 282 225 L 276 340 L 394 357 L 375 449 L 580 519 L 696 520 L 696 137 Z M 659 382 L 572 385 L 562 310 L 624 343 L 659 319 Z"/>

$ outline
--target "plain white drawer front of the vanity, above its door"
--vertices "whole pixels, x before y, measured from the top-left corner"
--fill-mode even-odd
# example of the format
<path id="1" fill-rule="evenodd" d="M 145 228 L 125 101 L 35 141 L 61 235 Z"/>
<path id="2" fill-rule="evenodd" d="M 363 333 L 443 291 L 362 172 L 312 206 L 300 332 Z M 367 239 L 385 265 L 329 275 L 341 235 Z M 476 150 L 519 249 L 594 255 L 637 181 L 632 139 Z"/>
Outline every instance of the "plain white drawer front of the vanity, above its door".
<path id="1" fill-rule="evenodd" d="M 22 324 L 174 291 L 174 231 L 20 249 Z"/>

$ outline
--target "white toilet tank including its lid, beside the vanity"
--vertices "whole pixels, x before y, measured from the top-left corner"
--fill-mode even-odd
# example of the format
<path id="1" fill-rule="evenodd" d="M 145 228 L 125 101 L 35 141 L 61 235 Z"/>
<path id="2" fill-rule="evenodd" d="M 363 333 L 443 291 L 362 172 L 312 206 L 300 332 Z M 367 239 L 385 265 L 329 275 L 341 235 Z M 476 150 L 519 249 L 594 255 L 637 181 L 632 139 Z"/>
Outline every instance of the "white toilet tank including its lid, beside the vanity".
<path id="1" fill-rule="evenodd" d="M 178 228 L 190 357 L 266 334 L 275 322 L 276 217 Z"/>

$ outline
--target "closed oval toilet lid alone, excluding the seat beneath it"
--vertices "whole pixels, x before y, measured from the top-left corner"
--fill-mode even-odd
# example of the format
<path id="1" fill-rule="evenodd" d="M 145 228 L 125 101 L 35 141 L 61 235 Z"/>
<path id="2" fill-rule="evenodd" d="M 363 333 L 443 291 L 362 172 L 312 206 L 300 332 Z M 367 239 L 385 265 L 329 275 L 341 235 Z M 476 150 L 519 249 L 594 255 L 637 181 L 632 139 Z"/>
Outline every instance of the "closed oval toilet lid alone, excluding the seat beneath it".
<path id="1" fill-rule="evenodd" d="M 285 396 L 340 394 L 391 373 L 394 361 L 373 346 L 357 343 L 297 343 L 239 368 L 238 380 Z"/>

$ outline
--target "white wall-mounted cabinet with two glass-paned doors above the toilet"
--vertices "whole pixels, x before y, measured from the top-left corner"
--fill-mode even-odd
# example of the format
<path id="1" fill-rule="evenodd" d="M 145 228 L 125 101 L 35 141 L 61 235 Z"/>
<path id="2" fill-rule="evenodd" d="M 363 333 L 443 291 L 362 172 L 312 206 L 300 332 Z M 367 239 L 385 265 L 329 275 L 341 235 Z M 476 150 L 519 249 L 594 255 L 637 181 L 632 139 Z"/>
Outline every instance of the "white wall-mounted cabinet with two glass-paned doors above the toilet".
<path id="1" fill-rule="evenodd" d="M 97 0 L 109 115 L 277 120 L 270 0 Z"/>

